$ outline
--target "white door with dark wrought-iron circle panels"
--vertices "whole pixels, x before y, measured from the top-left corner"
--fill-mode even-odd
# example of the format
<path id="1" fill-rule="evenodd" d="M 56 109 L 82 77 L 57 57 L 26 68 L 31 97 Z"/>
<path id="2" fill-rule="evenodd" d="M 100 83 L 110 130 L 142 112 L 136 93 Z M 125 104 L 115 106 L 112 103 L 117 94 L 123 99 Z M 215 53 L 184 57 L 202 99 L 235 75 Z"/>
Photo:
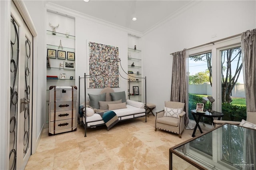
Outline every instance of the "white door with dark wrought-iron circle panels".
<path id="1" fill-rule="evenodd" d="M 9 169 L 24 169 L 31 155 L 33 36 L 11 2 Z"/>

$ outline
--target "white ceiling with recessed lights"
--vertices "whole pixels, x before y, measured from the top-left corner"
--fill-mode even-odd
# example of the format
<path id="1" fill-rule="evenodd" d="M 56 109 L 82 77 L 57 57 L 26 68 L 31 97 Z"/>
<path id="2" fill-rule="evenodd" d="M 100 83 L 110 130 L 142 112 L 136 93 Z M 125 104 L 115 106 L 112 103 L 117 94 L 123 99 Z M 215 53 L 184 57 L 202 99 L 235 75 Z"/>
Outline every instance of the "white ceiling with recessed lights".
<path id="1" fill-rule="evenodd" d="M 192 0 L 47 0 L 141 34 L 174 15 Z M 132 18 L 136 17 L 136 21 Z"/>

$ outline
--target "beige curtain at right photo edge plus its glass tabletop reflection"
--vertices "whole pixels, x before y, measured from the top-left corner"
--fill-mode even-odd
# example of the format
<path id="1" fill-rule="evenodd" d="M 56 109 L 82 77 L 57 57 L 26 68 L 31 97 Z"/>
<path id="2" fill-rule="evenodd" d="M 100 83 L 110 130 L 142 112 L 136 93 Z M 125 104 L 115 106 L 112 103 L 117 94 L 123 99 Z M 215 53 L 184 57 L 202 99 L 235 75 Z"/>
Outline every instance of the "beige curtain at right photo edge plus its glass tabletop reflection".
<path id="1" fill-rule="evenodd" d="M 241 43 L 242 57 L 244 60 L 246 110 L 256 112 L 256 29 L 243 32 Z M 246 145 L 245 162 L 254 164 L 253 167 L 246 167 L 249 170 L 256 168 L 255 139 L 255 130 L 250 130 L 246 133 L 246 141 L 244 141 Z"/>

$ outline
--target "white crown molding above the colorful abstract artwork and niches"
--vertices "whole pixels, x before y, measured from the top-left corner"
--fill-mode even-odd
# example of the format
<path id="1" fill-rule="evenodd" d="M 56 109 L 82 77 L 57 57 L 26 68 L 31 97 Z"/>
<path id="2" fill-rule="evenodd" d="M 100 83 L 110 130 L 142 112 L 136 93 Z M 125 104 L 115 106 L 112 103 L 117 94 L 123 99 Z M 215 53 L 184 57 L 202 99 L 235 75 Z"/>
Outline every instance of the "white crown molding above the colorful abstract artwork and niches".
<path id="1" fill-rule="evenodd" d="M 48 2 L 47 4 L 45 4 L 45 6 L 47 8 L 47 11 L 58 12 L 58 14 L 62 14 L 64 16 L 67 16 L 67 17 L 70 17 L 70 18 L 80 17 L 80 18 L 84 18 L 86 20 L 90 20 L 92 22 L 96 22 L 98 24 L 102 24 L 102 25 L 105 25 L 105 26 L 108 26 L 108 27 L 115 28 L 117 30 L 121 30 L 121 31 L 130 33 L 130 34 L 136 35 L 138 37 L 142 37 L 142 35 L 143 35 L 142 32 L 138 32 L 136 30 L 128 29 L 128 28 L 119 26 L 117 24 L 113 24 L 111 22 L 107 22 L 105 20 L 101 20 L 99 18 L 90 16 L 90 15 L 86 15 L 86 14 L 83 14 L 81 12 L 74 11 L 74 10 L 71 10 L 69 8 L 66 8 L 66 7 L 51 3 L 51 2 Z"/>

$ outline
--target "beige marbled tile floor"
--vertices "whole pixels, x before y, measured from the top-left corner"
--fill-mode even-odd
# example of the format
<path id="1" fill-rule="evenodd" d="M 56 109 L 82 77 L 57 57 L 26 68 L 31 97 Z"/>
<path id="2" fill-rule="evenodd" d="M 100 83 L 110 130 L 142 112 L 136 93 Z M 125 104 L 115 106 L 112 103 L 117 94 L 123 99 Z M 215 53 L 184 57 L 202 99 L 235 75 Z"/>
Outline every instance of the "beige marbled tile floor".
<path id="1" fill-rule="evenodd" d="M 154 131 L 155 117 L 119 122 L 87 129 L 77 125 L 74 132 L 48 136 L 44 129 L 36 153 L 26 170 L 168 170 L 169 148 L 191 138 L 193 130 L 178 134 Z M 200 132 L 197 132 L 200 133 Z M 174 170 L 194 170 L 191 164 L 174 156 Z"/>

